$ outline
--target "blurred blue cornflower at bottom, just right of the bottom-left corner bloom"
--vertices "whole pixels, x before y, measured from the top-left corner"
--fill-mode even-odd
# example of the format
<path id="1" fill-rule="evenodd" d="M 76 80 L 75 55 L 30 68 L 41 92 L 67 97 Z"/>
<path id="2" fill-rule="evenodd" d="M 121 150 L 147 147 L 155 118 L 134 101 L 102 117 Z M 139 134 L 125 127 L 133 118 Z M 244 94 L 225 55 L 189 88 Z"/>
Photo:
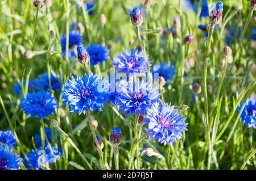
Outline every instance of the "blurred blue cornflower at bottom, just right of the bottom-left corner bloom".
<path id="1" fill-rule="evenodd" d="M 28 163 L 24 160 L 27 169 L 39 170 L 44 167 L 48 167 L 49 164 L 55 163 L 55 161 L 61 158 L 61 150 L 60 148 L 56 148 L 51 146 L 51 149 L 48 145 L 45 146 L 44 150 L 40 147 L 39 149 L 32 149 L 30 153 L 27 154 Z"/>

